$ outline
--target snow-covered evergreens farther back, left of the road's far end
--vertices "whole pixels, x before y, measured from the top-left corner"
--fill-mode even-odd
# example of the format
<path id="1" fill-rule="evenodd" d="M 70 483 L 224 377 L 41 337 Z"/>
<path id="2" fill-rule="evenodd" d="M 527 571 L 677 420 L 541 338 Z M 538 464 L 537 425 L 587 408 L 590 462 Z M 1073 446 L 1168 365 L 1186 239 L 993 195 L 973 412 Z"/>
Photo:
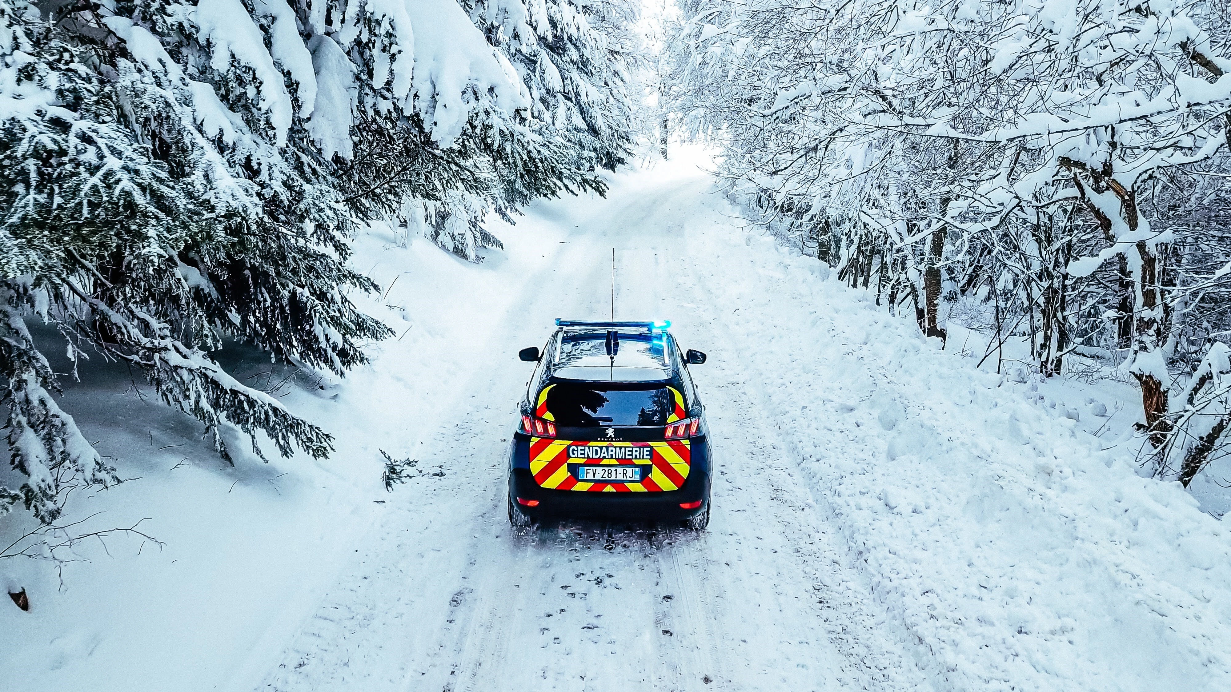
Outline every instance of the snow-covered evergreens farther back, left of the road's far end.
<path id="1" fill-rule="evenodd" d="M 507 87 L 499 91 L 506 101 L 512 96 L 519 96 L 521 101 L 495 105 L 484 90 L 464 89 L 469 115 L 457 121 L 459 127 L 451 129 L 448 137 L 441 138 L 433 127 L 426 127 L 425 113 L 399 108 L 396 99 L 388 99 L 379 89 L 371 89 L 367 80 L 358 80 L 357 101 L 369 107 L 358 108 L 355 155 L 340 166 L 340 179 L 346 201 L 362 218 L 393 217 L 441 247 L 475 260 L 480 249 L 500 246 L 500 240 L 484 225 L 489 214 L 512 220 L 517 207 L 537 197 L 606 190 L 595 167 L 623 163 L 628 103 L 620 99 L 624 91 L 620 54 L 599 49 L 611 42 L 586 23 L 574 4 L 527 6 L 518 0 L 467 0 L 460 7 L 479 32 L 460 27 L 457 10 L 443 6 L 448 26 L 428 28 L 439 36 L 464 39 L 462 47 L 469 55 L 490 52 L 480 65 L 500 65 L 507 70 L 503 76 L 515 80 L 519 76 L 524 89 L 517 94 L 510 94 Z M 616 18 L 596 15 L 608 21 L 613 34 L 619 34 L 627 32 L 627 22 L 620 22 L 635 15 L 632 7 L 630 2 L 618 4 Z M 558 33 L 551 33 L 556 31 L 553 21 L 559 25 Z M 377 32 L 378 27 L 371 31 Z M 555 74 L 559 85 L 549 89 L 543 89 L 545 73 L 537 68 L 540 63 L 549 65 L 542 48 L 544 31 L 553 41 L 571 37 L 572 43 L 566 41 L 561 46 L 576 63 L 570 69 L 577 73 L 567 80 Z M 476 44 L 476 38 L 483 43 Z M 362 43 L 351 49 L 355 64 L 378 64 L 363 58 L 364 50 L 368 48 Z M 480 76 L 490 71 L 479 70 Z M 603 89 L 593 89 L 582 78 L 603 80 Z M 553 79 L 547 81 L 555 84 Z M 544 108 L 544 101 L 553 110 Z M 395 107 L 371 107 L 384 102 Z M 567 116 L 569 127 L 556 127 L 556 115 Z"/>

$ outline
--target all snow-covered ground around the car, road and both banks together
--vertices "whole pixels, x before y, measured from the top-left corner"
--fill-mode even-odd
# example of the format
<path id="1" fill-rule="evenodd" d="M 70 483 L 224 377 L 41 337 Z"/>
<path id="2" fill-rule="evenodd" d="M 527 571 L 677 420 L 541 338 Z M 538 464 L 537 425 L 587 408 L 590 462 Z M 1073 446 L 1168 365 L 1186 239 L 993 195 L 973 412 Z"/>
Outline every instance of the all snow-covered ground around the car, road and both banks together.
<path id="1" fill-rule="evenodd" d="M 399 336 L 346 380 L 278 387 L 236 357 L 337 436 L 330 461 L 231 468 L 116 389 L 127 372 L 70 387 L 140 477 L 76 511 L 150 517 L 165 545 L 85 544 L 60 590 L 47 563 L 0 563 L 32 603 L 0 608 L 4 690 L 1231 688 L 1231 536 L 1108 442 L 1091 406 L 1114 392 L 1053 408 L 1059 385 L 937 350 L 750 235 L 687 159 L 497 235 L 478 266 L 361 239 L 385 291 L 362 305 Z M 609 314 L 613 251 L 616 316 L 709 355 L 713 521 L 516 534 L 516 352 Z M 385 493 L 379 449 L 421 475 Z"/>

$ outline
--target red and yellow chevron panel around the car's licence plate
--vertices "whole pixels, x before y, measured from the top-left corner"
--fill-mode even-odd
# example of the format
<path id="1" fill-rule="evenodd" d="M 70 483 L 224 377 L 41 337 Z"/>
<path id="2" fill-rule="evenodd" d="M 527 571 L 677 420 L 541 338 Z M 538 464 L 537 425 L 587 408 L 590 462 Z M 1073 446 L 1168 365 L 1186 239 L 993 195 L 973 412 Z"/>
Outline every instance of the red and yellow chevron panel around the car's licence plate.
<path id="1" fill-rule="evenodd" d="M 569 473 L 570 446 L 598 447 L 650 447 L 654 469 L 650 478 L 641 483 L 588 483 L 581 481 Z M 531 473 L 534 481 L 543 488 L 556 490 L 585 490 L 590 493 L 660 493 L 677 490 L 688 478 L 692 463 L 692 449 L 688 440 L 668 440 L 665 442 L 576 442 L 571 440 L 553 440 L 550 437 L 531 437 Z M 575 459 L 574 463 L 581 463 Z M 585 463 L 634 464 L 624 459 L 588 459 Z"/>

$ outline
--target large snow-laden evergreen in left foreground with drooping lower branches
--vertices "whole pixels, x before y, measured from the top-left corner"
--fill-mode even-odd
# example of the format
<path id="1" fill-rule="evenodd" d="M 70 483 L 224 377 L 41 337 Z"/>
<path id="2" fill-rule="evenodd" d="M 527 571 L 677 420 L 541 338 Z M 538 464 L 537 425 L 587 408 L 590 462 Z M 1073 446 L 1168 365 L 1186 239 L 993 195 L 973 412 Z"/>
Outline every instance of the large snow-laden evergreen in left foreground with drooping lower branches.
<path id="1" fill-rule="evenodd" d="M 167 33 L 176 22 L 174 7 L 119 9 Z M 356 339 L 387 332 L 339 292 L 372 284 L 343 265 L 345 213 L 277 145 L 289 113 L 247 113 L 259 127 L 272 121 L 266 132 L 236 115 L 259 70 L 218 62 L 211 74 L 207 52 L 196 53 L 202 64 L 180 65 L 149 30 L 105 14 L 62 5 L 44 20 L 6 0 L 2 15 L 5 102 L 18 103 L 0 115 L 2 400 L 14 468 L 30 479 L 20 494 L 44 522 L 66 488 L 113 475 L 48 395 L 55 383 L 25 315 L 57 324 L 73 355 L 92 347 L 139 367 L 207 431 L 260 430 L 283 454 L 298 446 L 314 457 L 327 453 L 327 433 L 238 383 L 202 348 L 233 335 L 341 372 L 363 361 Z M 180 49 L 199 26 L 181 17 Z M 222 99 L 190 73 L 217 80 Z M 262 76 L 270 90 L 273 74 Z"/>

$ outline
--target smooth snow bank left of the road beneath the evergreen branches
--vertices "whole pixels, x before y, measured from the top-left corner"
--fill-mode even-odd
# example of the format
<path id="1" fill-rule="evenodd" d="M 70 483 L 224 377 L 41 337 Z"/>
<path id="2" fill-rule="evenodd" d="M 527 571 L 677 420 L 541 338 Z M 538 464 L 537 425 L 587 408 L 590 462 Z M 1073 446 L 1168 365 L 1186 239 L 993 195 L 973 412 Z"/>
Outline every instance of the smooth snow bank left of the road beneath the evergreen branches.
<path id="1" fill-rule="evenodd" d="M 528 230 L 501 233 L 517 244 Z M 499 323 L 508 312 L 516 296 L 508 287 L 527 273 L 510 257 L 539 260 L 537 246 L 524 245 L 521 255 L 475 265 L 427 241 L 400 247 L 378 224 L 356 240 L 352 266 L 382 292 L 352 299 L 398 336 L 369 346 L 372 364 L 339 380 L 272 364 L 252 348 L 215 353 L 236 379 L 335 435 L 329 459 L 271 454 L 263 463 L 231 428 L 233 467 L 199 424 L 150 396 L 142 379 L 140 394 L 130 389 L 127 367 L 95 364 L 81 382 L 62 378 L 57 401 L 127 479 L 79 495 L 71 521 L 98 512 L 80 533 L 140 522 L 162 544 L 118 534 L 87 541 L 62 575 L 46 560 L 0 560 L 0 582 L 21 585 L 31 602 L 30 613 L 0 608 L 0 661 L 20 671 L 0 690 L 255 690 L 393 497 L 382 486 L 379 449 L 414 456 L 442 425 L 464 420 L 459 409 L 471 401 L 459 398 L 459 383 L 507 346 L 474 334 L 473 324 Z M 46 328 L 36 336 L 60 339 Z M 57 372 L 71 369 L 63 345 L 44 351 L 57 355 Z M 33 527 L 7 523 L 0 547 L 23 526 Z"/>

